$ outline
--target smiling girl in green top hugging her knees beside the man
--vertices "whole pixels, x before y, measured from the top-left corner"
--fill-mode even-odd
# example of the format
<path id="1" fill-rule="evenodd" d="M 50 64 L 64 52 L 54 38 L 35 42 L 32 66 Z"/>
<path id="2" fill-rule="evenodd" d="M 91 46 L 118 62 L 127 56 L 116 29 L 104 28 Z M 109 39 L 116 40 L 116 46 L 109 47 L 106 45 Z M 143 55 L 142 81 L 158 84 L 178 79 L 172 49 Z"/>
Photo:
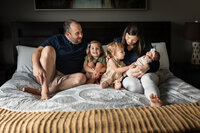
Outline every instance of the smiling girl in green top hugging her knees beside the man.
<path id="1" fill-rule="evenodd" d="M 101 75 L 106 71 L 106 58 L 101 43 L 91 41 L 86 53 L 83 67 L 86 71 L 87 83 L 99 83 Z"/>

